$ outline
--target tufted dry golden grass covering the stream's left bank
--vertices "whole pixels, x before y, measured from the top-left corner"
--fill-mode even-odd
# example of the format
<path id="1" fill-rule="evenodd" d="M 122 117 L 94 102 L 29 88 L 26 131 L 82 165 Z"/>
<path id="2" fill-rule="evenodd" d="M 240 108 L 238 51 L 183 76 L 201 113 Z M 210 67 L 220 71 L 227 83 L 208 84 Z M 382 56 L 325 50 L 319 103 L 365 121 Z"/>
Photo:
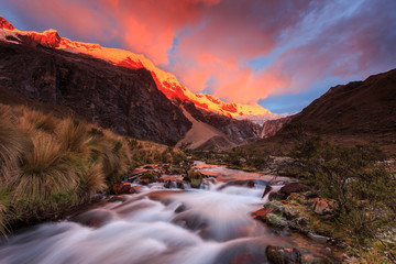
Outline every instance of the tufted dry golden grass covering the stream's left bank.
<path id="1" fill-rule="evenodd" d="M 177 161 L 178 150 L 120 136 L 24 106 L 0 103 L 0 234 L 7 221 L 51 219 L 88 202 L 135 166 Z"/>

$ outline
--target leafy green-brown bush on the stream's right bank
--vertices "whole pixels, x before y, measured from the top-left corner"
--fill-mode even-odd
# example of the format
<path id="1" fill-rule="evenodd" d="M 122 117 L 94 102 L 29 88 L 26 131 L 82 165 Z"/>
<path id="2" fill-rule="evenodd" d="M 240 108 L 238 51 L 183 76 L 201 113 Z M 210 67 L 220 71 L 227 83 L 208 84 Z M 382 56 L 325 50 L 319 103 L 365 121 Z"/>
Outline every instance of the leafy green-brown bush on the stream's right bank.
<path id="1" fill-rule="evenodd" d="M 365 242 L 395 220 L 396 182 L 378 161 L 384 155 L 372 146 L 332 146 L 318 138 L 296 145 L 300 174 L 321 196 L 341 209 L 337 220 L 350 235 Z"/>

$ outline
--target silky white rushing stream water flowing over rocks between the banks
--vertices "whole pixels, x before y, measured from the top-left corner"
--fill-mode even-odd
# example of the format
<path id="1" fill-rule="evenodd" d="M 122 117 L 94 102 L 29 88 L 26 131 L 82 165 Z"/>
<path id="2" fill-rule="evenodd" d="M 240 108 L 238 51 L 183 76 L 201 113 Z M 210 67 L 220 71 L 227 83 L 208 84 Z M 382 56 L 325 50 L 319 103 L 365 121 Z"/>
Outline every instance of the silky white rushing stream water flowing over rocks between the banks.
<path id="1" fill-rule="evenodd" d="M 266 245 L 295 246 L 251 218 L 265 185 L 287 179 L 198 167 L 217 180 L 185 191 L 156 183 L 69 221 L 40 224 L 3 240 L 0 263 L 266 263 Z M 244 179 L 256 184 L 249 188 Z"/>

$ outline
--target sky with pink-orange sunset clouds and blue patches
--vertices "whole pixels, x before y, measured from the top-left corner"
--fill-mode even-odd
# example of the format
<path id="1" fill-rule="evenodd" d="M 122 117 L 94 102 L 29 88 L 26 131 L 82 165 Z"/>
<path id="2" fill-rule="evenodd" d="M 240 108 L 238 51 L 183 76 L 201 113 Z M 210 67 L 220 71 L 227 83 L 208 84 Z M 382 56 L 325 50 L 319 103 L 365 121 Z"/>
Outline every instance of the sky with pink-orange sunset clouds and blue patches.
<path id="1" fill-rule="evenodd" d="M 144 54 L 194 92 L 274 113 L 396 68 L 396 0 L 0 0 L 0 15 Z"/>

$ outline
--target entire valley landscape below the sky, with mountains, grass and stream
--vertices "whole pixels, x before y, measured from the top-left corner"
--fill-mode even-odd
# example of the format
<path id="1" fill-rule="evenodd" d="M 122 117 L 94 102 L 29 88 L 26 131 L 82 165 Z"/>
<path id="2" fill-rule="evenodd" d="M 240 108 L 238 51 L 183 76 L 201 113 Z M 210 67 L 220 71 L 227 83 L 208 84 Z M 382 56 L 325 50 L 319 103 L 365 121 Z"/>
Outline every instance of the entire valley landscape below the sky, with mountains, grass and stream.
<path id="1" fill-rule="evenodd" d="M 396 69 L 293 114 L 209 94 L 0 16 L 0 263 L 396 263 Z"/>

